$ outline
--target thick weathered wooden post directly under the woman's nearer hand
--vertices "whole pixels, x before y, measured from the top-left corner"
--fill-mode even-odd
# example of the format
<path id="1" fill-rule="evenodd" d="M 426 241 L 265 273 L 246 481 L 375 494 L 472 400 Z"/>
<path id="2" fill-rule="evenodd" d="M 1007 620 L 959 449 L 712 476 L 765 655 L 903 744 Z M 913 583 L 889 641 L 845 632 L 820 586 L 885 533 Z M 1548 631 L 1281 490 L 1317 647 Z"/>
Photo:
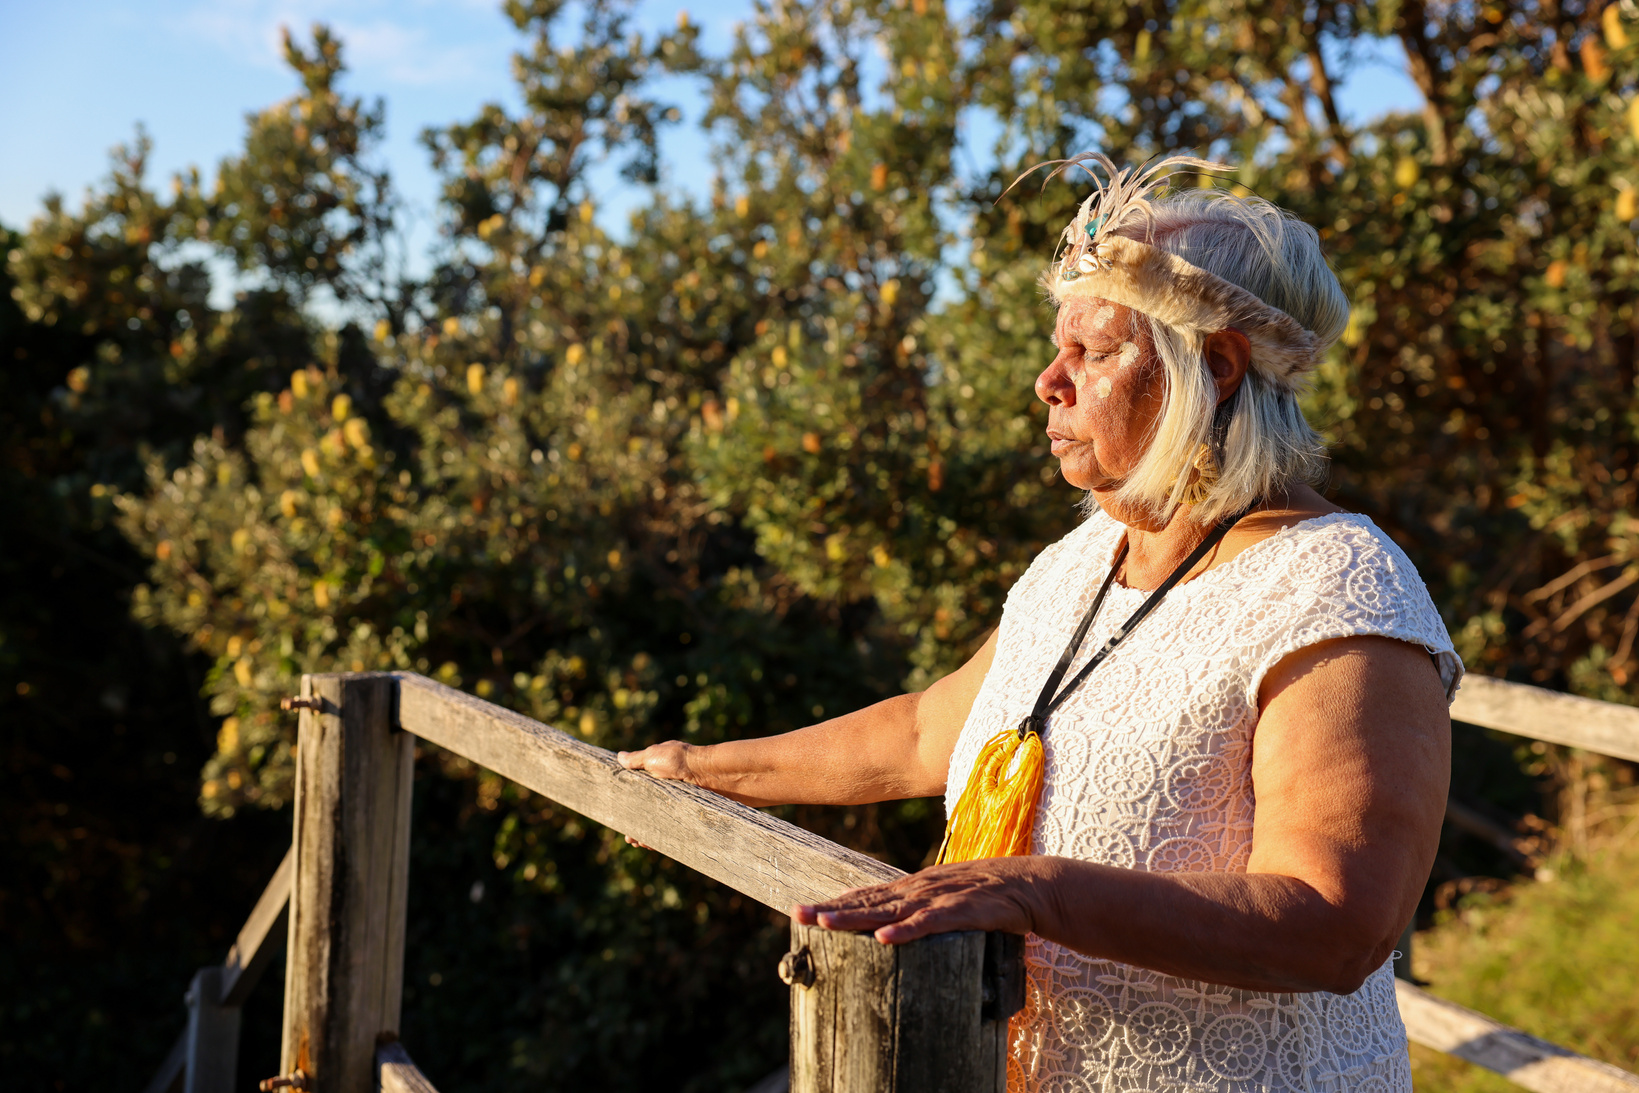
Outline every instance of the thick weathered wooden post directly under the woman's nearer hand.
<path id="1" fill-rule="evenodd" d="M 1023 939 L 903 946 L 792 923 L 792 1093 L 1005 1093 Z"/>

